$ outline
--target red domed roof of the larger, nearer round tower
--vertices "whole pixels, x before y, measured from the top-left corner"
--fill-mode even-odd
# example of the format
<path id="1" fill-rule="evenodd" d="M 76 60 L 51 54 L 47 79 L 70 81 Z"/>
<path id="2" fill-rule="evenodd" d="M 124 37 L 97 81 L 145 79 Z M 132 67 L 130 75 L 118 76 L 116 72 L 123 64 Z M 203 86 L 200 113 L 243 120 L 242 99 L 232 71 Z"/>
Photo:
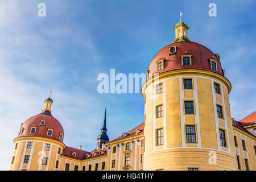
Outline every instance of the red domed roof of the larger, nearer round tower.
<path id="1" fill-rule="evenodd" d="M 170 55 L 169 48 L 171 46 L 176 46 L 176 53 Z M 192 55 L 192 65 L 191 66 L 182 66 L 180 55 L 185 55 L 185 51 L 187 51 L 188 55 Z M 176 42 L 169 44 L 168 46 L 162 48 L 151 60 L 151 63 L 148 67 L 148 73 L 151 73 L 152 76 L 156 73 L 156 61 L 161 59 L 165 59 L 164 61 L 164 69 L 158 73 L 171 71 L 174 69 L 188 69 L 188 68 L 196 68 L 196 69 L 206 69 L 212 72 L 216 72 L 223 76 L 222 68 L 220 62 L 217 61 L 217 56 L 214 55 L 210 49 L 202 46 L 201 44 L 195 42 Z M 210 68 L 209 59 L 214 59 L 217 61 L 217 71 L 213 71 Z M 150 77 L 150 75 L 149 75 Z"/>

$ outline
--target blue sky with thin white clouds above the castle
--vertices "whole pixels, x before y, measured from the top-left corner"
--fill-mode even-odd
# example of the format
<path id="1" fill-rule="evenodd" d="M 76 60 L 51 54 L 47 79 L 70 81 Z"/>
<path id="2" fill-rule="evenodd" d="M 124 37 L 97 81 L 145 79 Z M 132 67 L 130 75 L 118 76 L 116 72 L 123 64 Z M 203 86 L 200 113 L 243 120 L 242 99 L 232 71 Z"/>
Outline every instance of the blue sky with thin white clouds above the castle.
<path id="1" fill-rule="evenodd" d="M 46 16 L 38 16 L 38 4 Z M 216 3 L 217 16 L 209 16 Z M 256 110 L 255 5 L 246 1 L 0 0 L 0 170 L 7 170 L 20 123 L 43 109 L 52 89 L 52 115 L 66 146 L 92 151 L 108 101 L 111 139 L 143 122 L 141 93 L 100 94 L 100 73 L 145 73 L 152 57 L 175 39 L 182 19 L 188 38 L 221 56 L 232 117 Z"/>

